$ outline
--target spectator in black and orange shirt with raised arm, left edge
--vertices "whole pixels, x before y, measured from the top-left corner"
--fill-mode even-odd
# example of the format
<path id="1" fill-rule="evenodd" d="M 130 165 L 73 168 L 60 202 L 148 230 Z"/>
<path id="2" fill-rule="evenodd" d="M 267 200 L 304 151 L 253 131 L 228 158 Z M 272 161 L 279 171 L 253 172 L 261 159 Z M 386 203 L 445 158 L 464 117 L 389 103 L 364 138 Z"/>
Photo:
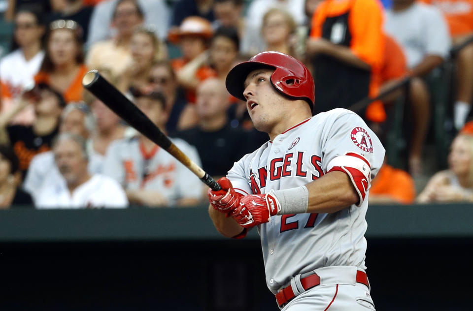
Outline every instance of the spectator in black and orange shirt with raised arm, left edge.
<path id="1" fill-rule="evenodd" d="M 10 120 L 29 104 L 34 105 L 33 125 L 7 126 Z M 59 130 L 61 111 L 65 105 L 61 93 L 47 84 L 38 84 L 32 91 L 18 97 L 10 110 L 0 115 L 0 136 L 3 142 L 10 142 L 19 159 L 23 176 L 33 156 L 51 149 L 52 140 Z"/>

